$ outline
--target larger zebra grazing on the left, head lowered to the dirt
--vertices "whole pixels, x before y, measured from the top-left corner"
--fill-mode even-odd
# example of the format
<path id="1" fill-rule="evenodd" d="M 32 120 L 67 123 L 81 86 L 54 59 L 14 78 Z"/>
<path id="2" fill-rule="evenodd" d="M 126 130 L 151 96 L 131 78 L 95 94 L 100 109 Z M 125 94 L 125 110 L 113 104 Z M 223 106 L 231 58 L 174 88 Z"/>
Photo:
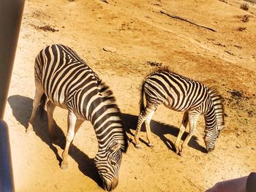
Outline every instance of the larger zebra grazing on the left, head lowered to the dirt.
<path id="1" fill-rule="evenodd" d="M 128 142 L 121 112 L 108 85 L 74 50 L 64 45 L 50 45 L 39 51 L 34 80 L 33 110 L 26 130 L 33 130 L 37 107 L 43 111 L 47 102 L 48 131 L 54 137 L 53 110 L 56 106 L 68 110 L 68 131 L 61 161 L 61 169 L 67 169 L 69 145 L 83 121 L 91 121 L 98 141 L 94 163 L 103 188 L 108 191 L 116 188 L 122 153 L 127 151 Z"/>

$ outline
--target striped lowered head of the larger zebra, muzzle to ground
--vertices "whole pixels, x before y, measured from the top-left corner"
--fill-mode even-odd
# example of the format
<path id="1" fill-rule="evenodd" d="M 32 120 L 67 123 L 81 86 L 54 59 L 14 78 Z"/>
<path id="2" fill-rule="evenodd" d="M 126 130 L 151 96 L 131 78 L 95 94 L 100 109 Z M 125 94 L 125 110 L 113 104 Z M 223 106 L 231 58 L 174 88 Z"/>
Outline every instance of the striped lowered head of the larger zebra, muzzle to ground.
<path id="1" fill-rule="evenodd" d="M 118 185 L 118 171 L 121 165 L 122 150 L 119 142 L 113 141 L 108 149 L 99 150 L 94 158 L 103 188 L 112 191 Z"/>

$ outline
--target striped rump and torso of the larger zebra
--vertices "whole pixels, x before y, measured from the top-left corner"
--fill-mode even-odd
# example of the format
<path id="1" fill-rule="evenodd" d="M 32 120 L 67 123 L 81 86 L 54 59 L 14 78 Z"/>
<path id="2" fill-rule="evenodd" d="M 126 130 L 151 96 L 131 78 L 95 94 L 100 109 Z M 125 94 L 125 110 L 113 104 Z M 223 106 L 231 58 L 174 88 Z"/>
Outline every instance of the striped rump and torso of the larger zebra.
<path id="1" fill-rule="evenodd" d="M 51 45 L 39 52 L 35 61 L 35 81 L 42 86 L 48 99 L 62 108 L 67 108 L 75 93 L 89 91 L 101 82 L 86 62 L 64 45 Z"/>

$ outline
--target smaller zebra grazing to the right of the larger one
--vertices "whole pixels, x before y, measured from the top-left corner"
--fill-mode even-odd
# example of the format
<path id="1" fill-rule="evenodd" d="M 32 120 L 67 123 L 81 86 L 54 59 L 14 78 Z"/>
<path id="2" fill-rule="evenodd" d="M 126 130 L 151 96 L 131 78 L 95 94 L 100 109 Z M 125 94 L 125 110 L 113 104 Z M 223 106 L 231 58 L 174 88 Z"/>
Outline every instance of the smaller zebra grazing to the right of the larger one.
<path id="1" fill-rule="evenodd" d="M 143 104 L 144 96 L 146 107 Z M 138 134 L 144 121 L 148 145 L 153 147 L 150 121 L 160 104 L 164 104 L 165 107 L 171 110 L 184 112 L 178 137 L 174 144 L 177 154 L 181 155 L 195 133 L 197 119 L 200 115 L 204 115 L 206 122 L 204 137 L 206 150 L 208 152 L 214 150 L 219 132 L 225 127 L 222 96 L 213 88 L 208 88 L 200 82 L 171 72 L 167 67 L 156 69 L 143 80 L 140 91 L 140 115 L 138 116 L 138 125 L 134 137 L 135 147 L 140 148 Z M 188 122 L 190 126 L 189 134 L 183 144 L 179 145 Z"/>

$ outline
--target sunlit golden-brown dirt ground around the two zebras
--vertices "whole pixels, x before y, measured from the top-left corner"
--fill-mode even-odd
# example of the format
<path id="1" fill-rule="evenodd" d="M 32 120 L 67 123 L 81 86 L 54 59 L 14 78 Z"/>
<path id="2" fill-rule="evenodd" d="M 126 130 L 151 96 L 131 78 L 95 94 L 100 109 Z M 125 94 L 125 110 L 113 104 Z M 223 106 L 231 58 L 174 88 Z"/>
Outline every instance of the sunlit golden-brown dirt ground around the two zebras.
<path id="1" fill-rule="evenodd" d="M 182 113 L 159 107 L 151 121 L 154 147 L 129 145 L 115 191 L 205 191 L 218 181 L 255 172 L 256 5 L 249 3 L 245 11 L 242 3 L 27 0 L 5 112 L 15 191 L 102 191 L 91 123 L 78 131 L 67 170 L 59 167 L 67 111 L 54 113 L 59 145 L 50 142 L 46 115 L 36 119 L 34 134 L 25 133 L 34 99 L 34 58 L 53 43 L 72 47 L 110 85 L 131 138 L 141 82 L 157 66 L 214 86 L 225 99 L 226 128 L 214 152 L 206 153 L 202 117 L 182 157 L 173 152 Z M 146 141 L 145 129 L 140 135 Z"/>

